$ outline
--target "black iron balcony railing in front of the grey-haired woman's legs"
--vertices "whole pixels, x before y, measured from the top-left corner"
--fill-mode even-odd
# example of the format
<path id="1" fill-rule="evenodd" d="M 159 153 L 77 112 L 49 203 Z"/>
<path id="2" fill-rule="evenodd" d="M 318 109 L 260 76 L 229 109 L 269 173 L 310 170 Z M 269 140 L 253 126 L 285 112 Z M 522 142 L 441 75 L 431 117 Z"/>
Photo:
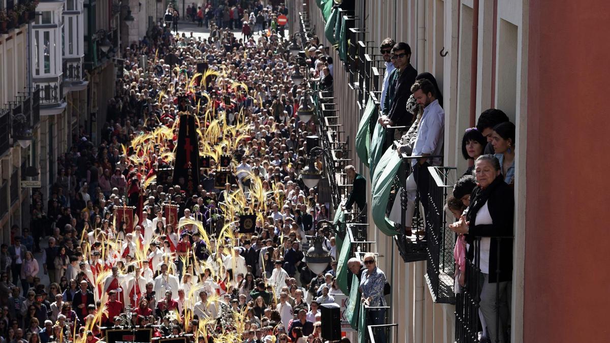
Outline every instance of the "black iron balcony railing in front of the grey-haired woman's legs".
<path id="1" fill-rule="evenodd" d="M 489 333 L 488 337 L 492 342 L 500 342 L 501 335 L 504 335 L 502 341 L 510 342 L 510 339 L 506 337 L 508 334 L 504 329 L 508 327 L 510 317 L 508 316 L 509 304 L 505 303 L 508 301 L 508 293 L 510 289 L 501 287 L 501 283 L 487 283 L 492 287 L 492 292 L 495 292 L 495 301 L 493 301 L 493 311 L 495 312 L 489 316 L 486 315 L 487 311 L 479 311 L 481 307 L 481 292 L 483 287 L 486 286 L 484 283 L 483 273 L 481 273 L 481 240 L 484 237 L 475 237 L 471 243 L 473 252 L 473 259 L 466 259 L 466 270 L 465 270 L 465 284 L 461 287 L 461 292 L 456 295 L 456 342 L 458 343 L 478 343 L 479 342 L 479 324 L 483 329 L 489 330 L 489 325 L 494 325 L 497 330 L 493 333 Z M 487 237 L 486 239 L 489 239 Z M 495 245 L 496 247 L 496 261 L 497 269 L 489 270 L 489 275 L 495 274 L 495 279 L 498 279 L 500 275 L 500 256 L 503 253 L 512 253 L 512 236 L 498 236 L 490 239 L 488 247 Z M 506 243 L 510 242 L 508 246 Z M 506 272 L 506 271 L 505 271 Z M 511 271 L 512 272 L 512 271 Z M 489 307 L 489 304 L 486 306 Z M 504 311 L 505 310 L 505 311 Z M 483 319 L 487 325 L 479 321 L 479 314 L 482 314 Z M 504 318 L 503 318 L 504 317 Z M 486 330 L 483 330 L 486 332 Z M 508 339 L 508 340 L 507 340 Z"/>

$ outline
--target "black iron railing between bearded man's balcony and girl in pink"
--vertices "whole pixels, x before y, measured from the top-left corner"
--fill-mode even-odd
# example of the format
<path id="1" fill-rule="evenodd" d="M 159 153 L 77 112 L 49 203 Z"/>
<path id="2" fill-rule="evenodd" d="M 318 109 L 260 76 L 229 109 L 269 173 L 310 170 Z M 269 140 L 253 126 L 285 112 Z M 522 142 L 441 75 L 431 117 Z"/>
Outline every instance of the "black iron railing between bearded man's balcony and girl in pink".
<path id="1" fill-rule="evenodd" d="M 428 264 L 426 281 L 435 303 L 455 303 L 453 292 L 455 263 L 453 248 L 456 235 L 447 228 L 445 199 L 453 190 L 456 180 L 455 167 L 428 167 Z"/>

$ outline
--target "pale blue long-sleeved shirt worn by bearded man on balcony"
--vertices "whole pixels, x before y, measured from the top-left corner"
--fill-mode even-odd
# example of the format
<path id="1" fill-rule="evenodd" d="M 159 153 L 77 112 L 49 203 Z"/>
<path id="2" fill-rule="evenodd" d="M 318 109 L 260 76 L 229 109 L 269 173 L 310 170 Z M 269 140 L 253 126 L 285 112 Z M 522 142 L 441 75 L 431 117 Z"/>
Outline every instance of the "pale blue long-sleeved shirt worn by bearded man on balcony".
<path id="1" fill-rule="evenodd" d="M 420 120 L 419 128 L 417 129 L 417 139 L 413 146 L 412 156 L 421 154 L 440 155 L 443 151 L 443 142 L 445 139 L 445 111 L 439 105 L 438 100 L 432 101 L 423 109 L 422 120 Z M 432 165 L 438 165 L 440 159 L 429 161 Z M 435 163 L 436 162 L 436 163 Z M 417 159 L 413 159 L 412 165 L 417 163 Z"/>

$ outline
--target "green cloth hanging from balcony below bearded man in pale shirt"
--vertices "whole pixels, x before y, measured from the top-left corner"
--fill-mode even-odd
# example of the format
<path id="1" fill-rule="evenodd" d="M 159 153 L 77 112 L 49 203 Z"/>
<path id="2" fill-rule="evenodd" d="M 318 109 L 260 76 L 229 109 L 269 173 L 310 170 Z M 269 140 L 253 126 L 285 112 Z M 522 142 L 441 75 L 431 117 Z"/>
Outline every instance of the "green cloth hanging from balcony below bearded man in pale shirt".
<path id="1" fill-rule="evenodd" d="M 396 176 L 400 164 L 401 158 L 396 150 L 386 150 L 375 168 L 375 175 L 373 175 L 373 182 L 371 183 L 373 185 L 373 200 L 371 201 L 373 222 L 387 236 L 398 234 L 394 226 L 395 223 L 386 217 L 386 209 L 394 176 Z"/>

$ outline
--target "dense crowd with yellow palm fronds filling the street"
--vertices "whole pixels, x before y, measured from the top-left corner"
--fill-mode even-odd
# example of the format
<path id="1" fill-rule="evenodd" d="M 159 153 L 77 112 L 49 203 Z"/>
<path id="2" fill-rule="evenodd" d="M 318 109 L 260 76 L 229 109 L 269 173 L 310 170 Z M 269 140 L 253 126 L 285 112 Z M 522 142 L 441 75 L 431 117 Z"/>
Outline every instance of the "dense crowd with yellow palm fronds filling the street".
<path id="1" fill-rule="evenodd" d="M 254 5 L 248 18 L 263 10 Z M 123 51 L 101 142 L 75 132 L 49 198 L 32 197 L 30 228 L 13 227 L 2 245 L 2 341 L 96 342 L 138 325 L 192 342 L 322 342 L 320 306 L 340 291 L 336 261 L 314 275 L 304 259 L 315 234 L 336 257 L 332 230 L 317 225 L 328 204 L 300 177 L 315 158 L 305 137 L 317 133 L 296 115 L 307 85 L 290 78 L 290 40 L 273 30 L 242 40 L 225 27 L 201 39 L 157 24 Z M 316 37 L 301 43 L 304 67 L 323 76 L 325 49 Z M 202 159 L 195 185 L 171 173 L 188 116 Z"/>

